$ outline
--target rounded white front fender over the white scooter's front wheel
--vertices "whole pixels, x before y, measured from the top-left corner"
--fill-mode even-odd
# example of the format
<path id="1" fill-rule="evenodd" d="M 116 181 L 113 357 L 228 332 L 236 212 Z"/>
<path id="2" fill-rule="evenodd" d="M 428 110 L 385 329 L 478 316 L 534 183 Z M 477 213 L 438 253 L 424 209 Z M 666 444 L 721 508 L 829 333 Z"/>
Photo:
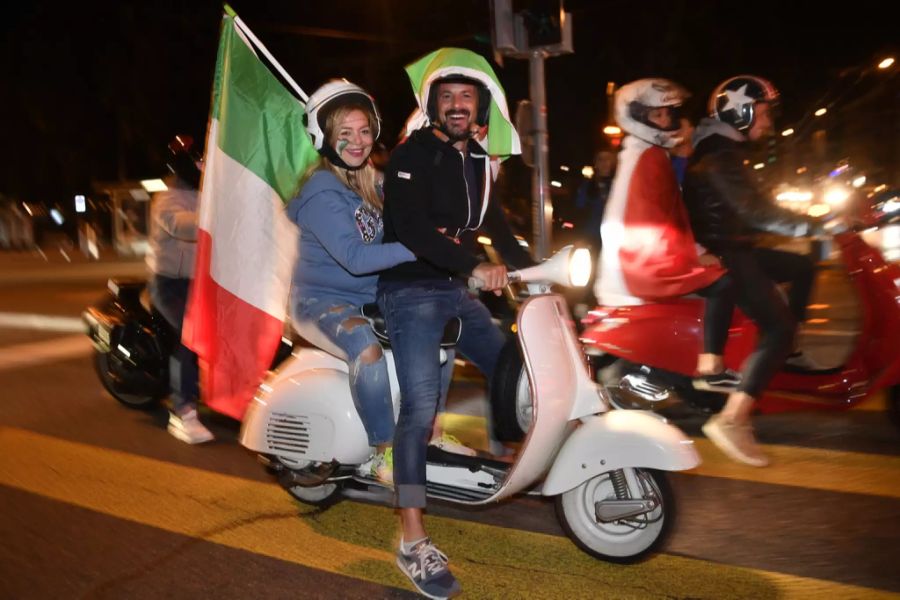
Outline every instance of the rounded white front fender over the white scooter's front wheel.
<path id="1" fill-rule="evenodd" d="M 563 444 L 541 493 L 555 496 L 627 467 L 683 471 L 700 464 L 694 442 L 648 411 L 614 410 L 585 419 Z"/>

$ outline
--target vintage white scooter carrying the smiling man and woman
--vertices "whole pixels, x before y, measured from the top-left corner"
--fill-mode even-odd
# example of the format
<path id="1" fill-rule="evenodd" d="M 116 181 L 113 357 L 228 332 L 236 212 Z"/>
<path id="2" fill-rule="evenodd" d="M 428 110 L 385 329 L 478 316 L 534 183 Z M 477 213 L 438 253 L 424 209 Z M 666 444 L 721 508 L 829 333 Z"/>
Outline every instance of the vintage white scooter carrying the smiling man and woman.
<path id="1" fill-rule="evenodd" d="M 661 417 L 610 411 L 606 390 L 592 381 L 569 308 L 550 293 L 551 282 L 585 285 L 591 264 L 587 250 L 566 247 L 540 265 L 510 273 L 511 281 L 529 283 L 532 293 L 517 321 L 532 426 L 511 464 L 429 446 L 427 493 L 470 506 L 522 492 L 553 496 L 563 528 L 582 550 L 632 562 L 658 548 L 674 520 L 672 491 L 661 471 L 690 469 L 700 459 L 692 441 Z M 385 354 L 396 415 L 397 377 L 391 351 Z M 301 502 L 391 499 L 388 488 L 359 468 L 373 449 L 347 373 L 337 356 L 296 350 L 260 386 L 244 419 L 241 444 L 258 452 Z"/>

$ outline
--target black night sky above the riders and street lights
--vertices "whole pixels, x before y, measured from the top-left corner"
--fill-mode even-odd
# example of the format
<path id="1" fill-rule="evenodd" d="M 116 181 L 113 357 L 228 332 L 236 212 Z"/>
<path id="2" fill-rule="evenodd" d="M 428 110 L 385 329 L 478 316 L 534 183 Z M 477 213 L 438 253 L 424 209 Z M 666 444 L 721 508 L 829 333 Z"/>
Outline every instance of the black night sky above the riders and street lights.
<path id="1" fill-rule="evenodd" d="M 565 5 L 575 54 L 546 63 L 551 166 L 590 162 L 606 121 L 607 81 L 674 79 L 694 93 L 697 115 L 720 80 L 758 74 L 781 89 L 787 126 L 849 85 L 854 69 L 895 53 L 900 38 L 886 2 L 828 12 L 824 2 L 788 0 Z M 487 0 L 231 6 L 307 93 L 336 76 L 367 87 L 388 147 L 413 108 L 405 64 L 443 45 L 491 56 Z M 7 7 L 0 194 L 68 202 L 89 193 L 92 180 L 163 174 L 174 133 L 204 136 L 221 13 L 221 3 L 208 0 Z M 497 71 L 511 103 L 527 97 L 526 61 L 507 59 Z M 896 111 L 892 118 L 886 131 L 896 135 Z"/>

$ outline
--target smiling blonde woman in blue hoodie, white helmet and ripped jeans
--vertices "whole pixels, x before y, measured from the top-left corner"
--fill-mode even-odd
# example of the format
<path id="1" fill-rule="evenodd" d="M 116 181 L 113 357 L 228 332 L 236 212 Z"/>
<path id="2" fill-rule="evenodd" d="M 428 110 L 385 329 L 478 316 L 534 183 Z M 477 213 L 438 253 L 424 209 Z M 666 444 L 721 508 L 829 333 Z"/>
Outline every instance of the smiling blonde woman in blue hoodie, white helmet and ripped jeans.
<path id="1" fill-rule="evenodd" d="M 374 99 L 333 80 L 309 97 L 306 110 L 321 161 L 287 208 L 300 228 L 293 324 L 308 341 L 346 357 L 353 402 L 376 449 L 370 474 L 390 482 L 394 411 L 387 363 L 360 307 L 375 301 L 378 271 L 415 256 L 400 243 L 381 243 L 380 174 L 369 160 L 381 128 Z"/>

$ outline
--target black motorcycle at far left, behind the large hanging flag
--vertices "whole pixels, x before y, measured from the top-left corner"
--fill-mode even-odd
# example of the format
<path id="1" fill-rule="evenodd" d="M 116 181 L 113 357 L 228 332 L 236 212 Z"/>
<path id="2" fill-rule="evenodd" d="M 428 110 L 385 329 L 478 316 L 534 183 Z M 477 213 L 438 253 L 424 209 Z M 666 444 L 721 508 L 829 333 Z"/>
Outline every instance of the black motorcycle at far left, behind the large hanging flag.
<path id="1" fill-rule="evenodd" d="M 81 314 L 103 387 L 128 408 L 146 410 L 169 395 L 169 358 L 177 332 L 156 310 L 141 279 L 110 279 L 107 294 Z M 274 365 L 292 342 L 282 338 Z"/>

